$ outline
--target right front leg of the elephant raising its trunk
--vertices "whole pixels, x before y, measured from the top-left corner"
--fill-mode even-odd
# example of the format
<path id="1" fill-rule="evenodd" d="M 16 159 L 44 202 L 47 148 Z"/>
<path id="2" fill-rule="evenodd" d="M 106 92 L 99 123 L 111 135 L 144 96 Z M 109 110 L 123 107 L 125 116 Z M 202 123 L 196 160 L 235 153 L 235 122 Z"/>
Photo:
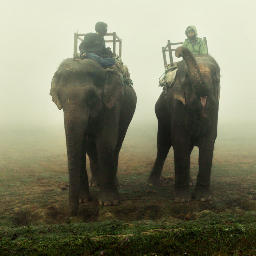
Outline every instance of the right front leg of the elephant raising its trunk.
<path id="1" fill-rule="evenodd" d="M 210 176 L 212 169 L 212 157 L 215 140 L 209 140 L 199 145 L 199 171 L 197 175 L 197 183 L 193 196 L 201 201 L 212 199 L 210 191 Z"/>

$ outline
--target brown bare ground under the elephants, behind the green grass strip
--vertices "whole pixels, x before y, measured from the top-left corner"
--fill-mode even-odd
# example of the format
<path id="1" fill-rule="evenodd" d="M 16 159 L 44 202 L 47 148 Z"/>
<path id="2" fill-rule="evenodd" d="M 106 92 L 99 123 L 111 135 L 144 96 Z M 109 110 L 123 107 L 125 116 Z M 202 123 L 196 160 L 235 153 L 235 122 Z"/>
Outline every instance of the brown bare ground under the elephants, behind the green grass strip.
<path id="1" fill-rule="evenodd" d="M 255 210 L 255 126 L 219 125 L 211 175 L 213 200 L 174 203 L 173 150 L 162 172 L 160 186 L 145 181 L 156 157 L 157 125 L 132 124 L 119 157 L 118 188 L 121 204 L 98 205 L 98 187 L 91 187 L 93 200 L 80 204 L 79 218 L 85 222 L 193 218 L 203 210 L 239 212 Z M 65 221 L 68 208 L 68 171 L 63 128 L 19 128 L 1 130 L 0 219 L 11 216 L 19 226 L 57 224 Z M 191 154 L 191 177 L 198 172 L 198 148 Z M 90 176 L 89 166 L 87 164 Z M 191 187 L 191 190 L 193 190 Z"/>

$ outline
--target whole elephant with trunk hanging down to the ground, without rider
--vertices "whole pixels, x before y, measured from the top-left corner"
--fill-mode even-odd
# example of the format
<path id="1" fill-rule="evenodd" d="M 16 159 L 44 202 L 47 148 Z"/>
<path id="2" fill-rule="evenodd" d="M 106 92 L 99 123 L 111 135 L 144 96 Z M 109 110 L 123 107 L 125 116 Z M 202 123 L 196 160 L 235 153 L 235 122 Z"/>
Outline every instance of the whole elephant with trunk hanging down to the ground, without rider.
<path id="1" fill-rule="evenodd" d="M 77 215 L 79 203 L 91 199 L 89 185 L 99 184 L 100 205 L 119 203 L 118 155 L 137 103 L 133 87 L 124 86 L 121 78 L 115 70 L 103 69 L 91 59 L 66 59 L 53 76 L 50 95 L 64 113 L 68 217 Z M 86 154 L 92 173 L 90 184 Z"/>

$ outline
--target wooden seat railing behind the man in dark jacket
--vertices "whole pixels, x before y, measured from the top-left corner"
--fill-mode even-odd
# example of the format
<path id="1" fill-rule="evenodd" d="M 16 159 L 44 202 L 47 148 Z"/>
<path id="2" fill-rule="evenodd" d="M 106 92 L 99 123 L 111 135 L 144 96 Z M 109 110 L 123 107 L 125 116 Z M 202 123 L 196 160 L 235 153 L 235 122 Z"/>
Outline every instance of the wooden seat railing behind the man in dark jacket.
<path id="1" fill-rule="evenodd" d="M 86 34 L 79 34 L 79 33 L 74 33 L 74 53 L 73 53 L 73 58 L 76 59 L 80 56 L 80 53 L 77 53 L 77 46 L 78 46 L 78 41 L 83 41 L 81 37 L 84 37 Z M 112 35 L 113 39 L 112 40 L 105 40 L 106 43 L 113 43 L 112 47 L 112 57 L 116 57 L 116 43 L 119 43 L 119 57 L 122 57 L 122 39 L 118 37 L 116 32 L 113 33 L 107 33 L 106 35 Z"/>

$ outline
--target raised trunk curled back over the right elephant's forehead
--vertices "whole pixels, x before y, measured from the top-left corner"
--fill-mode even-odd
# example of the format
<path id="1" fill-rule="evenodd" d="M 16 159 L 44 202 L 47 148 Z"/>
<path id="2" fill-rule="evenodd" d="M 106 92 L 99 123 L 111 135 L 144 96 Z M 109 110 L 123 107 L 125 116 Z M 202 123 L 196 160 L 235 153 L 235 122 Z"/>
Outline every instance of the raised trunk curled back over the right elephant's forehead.
<path id="1" fill-rule="evenodd" d="M 193 53 L 191 53 L 188 48 L 184 46 L 179 46 L 175 51 L 175 56 L 177 58 L 183 57 L 183 59 L 185 60 L 188 70 L 188 76 L 191 80 L 192 85 L 195 88 L 196 94 L 199 97 L 207 96 L 210 92 L 210 86 L 207 85 L 209 79 L 207 78 L 207 75 L 205 75 L 205 73 L 208 72 L 204 72 L 203 77 L 201 73 L 202 67 L 199 67 L 195 57 L 193 56 Z"/>

